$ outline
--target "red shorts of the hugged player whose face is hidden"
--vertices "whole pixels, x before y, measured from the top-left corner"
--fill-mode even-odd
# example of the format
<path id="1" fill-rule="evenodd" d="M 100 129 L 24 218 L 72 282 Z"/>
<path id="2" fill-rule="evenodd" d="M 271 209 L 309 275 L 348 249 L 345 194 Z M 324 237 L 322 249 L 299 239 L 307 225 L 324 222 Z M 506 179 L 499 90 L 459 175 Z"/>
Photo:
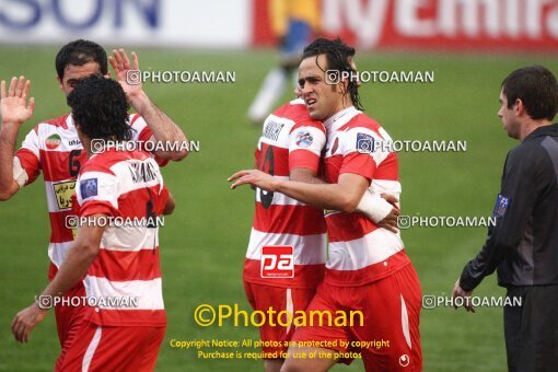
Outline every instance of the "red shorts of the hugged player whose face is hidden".
<path id="1" fill-rule="evenodd" d="M 265 284 L 256 284 L 244 281 L 244 291 L 248 298 L 249 304 L 254 310 L 267 313 L 271 307 L 276 314 L 281 311 L 289 311 L 293 314 L 297 311 L 303 311 L 316 293 L 315 288 L 281 288 Z M 277 317 L 272 319 L 275 326 L 268 323 L 259 327 L 259 337 L 264 345 L 264 359 L 281 358 L 282 352 L 287 352 L 286 342 L 291 340 L 294 333 L 294 325 L 282 327 L 278 324 Z M 287 323 L 287 316 L 282 324 Z"/>

